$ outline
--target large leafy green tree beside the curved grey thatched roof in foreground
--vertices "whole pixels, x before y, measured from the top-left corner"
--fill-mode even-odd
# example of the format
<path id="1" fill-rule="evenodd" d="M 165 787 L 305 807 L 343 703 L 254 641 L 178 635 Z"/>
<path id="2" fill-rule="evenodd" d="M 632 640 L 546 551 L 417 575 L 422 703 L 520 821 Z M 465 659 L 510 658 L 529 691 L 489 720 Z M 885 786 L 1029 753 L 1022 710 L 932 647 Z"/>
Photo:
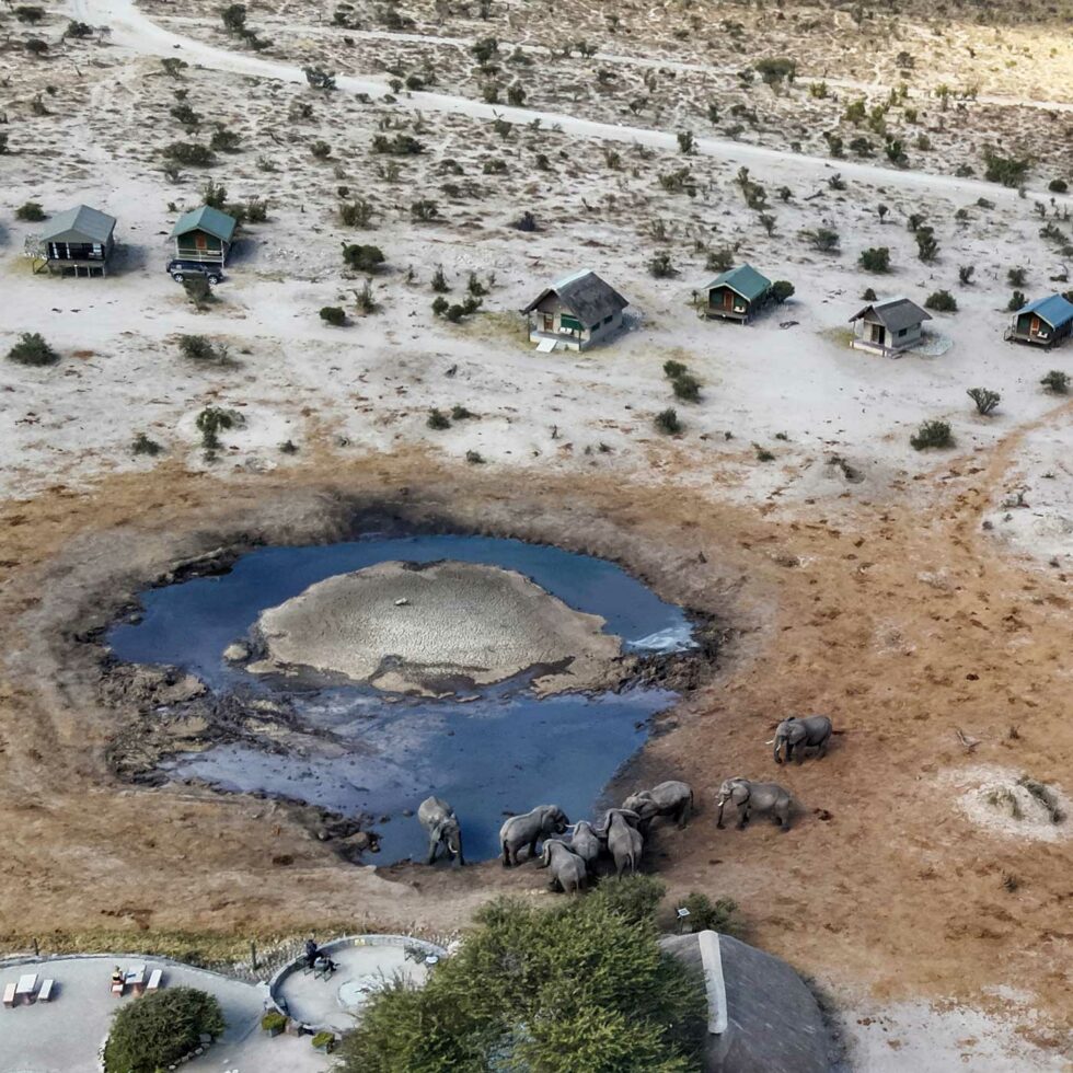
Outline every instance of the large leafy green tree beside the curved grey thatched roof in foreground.
<path id="1" fill-rule="evenodd" d="M 608 880 L 553 909 L 485 907 L 423 990 L 395 983 L 370 999 L 341 1073 L 696 1069 L 703 983 L 660 951 L 650 912 L 627 915 L 644 905 L 620 897 L 622 911 L 610 893 L 647 879 Z"/>

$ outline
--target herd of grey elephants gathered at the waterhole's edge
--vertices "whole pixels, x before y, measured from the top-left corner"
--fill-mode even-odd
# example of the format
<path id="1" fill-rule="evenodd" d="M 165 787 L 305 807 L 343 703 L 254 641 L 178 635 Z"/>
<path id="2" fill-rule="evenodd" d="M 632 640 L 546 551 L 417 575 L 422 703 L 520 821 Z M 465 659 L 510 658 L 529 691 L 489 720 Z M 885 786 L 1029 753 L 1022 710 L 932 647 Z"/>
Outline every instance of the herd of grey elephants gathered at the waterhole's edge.
<path id="1" fill-rule="evenodd" d="M 801 763 L 807 749 L 826 755 L 832 732 L 831 720 L 823 715 L 784 719 L 773 739 L 775 763 L 788 762 L 795 753 Z M 719 828 L 728 803 L 737 808 L 739 830 L 753 812 L 770 816 L 783 831 L 789 830 L 794 799 L 777 783 L 727 778 L 716 797 Z M 553 889 L 576 893 L 585 890 L 604 856 L 613 862 L 616 876 L 632 875 L 641 863 L 653 822 L 667 817 L 683 828 L 692 814 L 693 791 L 677 780 L 631 794 L 621 807 L 608 809 L 600 823 L 580 820 L 572 824 L 557 805 L 538 805 L 504 822 L 499 830 L 500 859 L 504 867 L 536 859 L 538 867 L 550 869 Z M 459 819 L 450 805 L 438 797 L 426 798 L 417 819 L 428 837 L 428 864 L 434 864 L 441 851 L 455 866 L 465 863 Z"/>

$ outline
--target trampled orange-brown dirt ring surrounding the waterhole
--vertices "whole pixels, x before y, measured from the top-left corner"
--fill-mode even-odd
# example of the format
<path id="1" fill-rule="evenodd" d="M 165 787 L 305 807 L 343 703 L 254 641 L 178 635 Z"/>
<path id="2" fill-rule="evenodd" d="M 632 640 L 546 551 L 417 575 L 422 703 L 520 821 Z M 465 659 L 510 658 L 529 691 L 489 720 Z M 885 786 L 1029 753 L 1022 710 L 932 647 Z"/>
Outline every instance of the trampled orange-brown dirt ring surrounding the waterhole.
<path id="1" fill-rule="evenodd" d="M 460 477 L 418 454 L 349 469 L 311 455 L 303 470 L 226 487 L 165 465 L 89 495 L 54 488 L 8 505 L 0 931 L 14 939 L 123 923 L 241 930 L 355 918 L 446 928 L 493 889 L 541 886 L 530 869 L 495 864 L 461 876 L 403 870 L 389 882 L 341 864 L 270 803 L 129 788 L 107 771 L 116 716 L 95 702 L 92 649 L 76 634 L 175 559 L 240 535 L 342 533 L 354 504 L 386 500 L 618 558 L 662 596 L 740 631 L 717 683 L 672 713 L 677 728 L 654 738 L 632 773 L 673 773 L 700 789 L 701 815 L 687 832 L 664 833 L 653 861 L 672 890 L 736 898 L 751 938 L 828 988 L 987 1005 L 984 989 L 1017 981 L 1061 1024 L 1073 1009 L 1071 843 L 973 829 L 942 780 L 995 763 L 1060 783 L 1073 754 L 1065 579 L 1023 572 L 978 534 L 1004 465 L 1003 451 L 990 470 L 955 463 L 959 475 L 936 482 L 931 508 L 861 504 L 837 524 L 750 517 L 605 477 L 532 477 L 519 497 L 494 471 Z M 803 711 L 829 712 L 846 732 L 828 760 L 775 769 L 770 728 Z M 971 755 L 955 727 L 980 739 Z M 712 791 L 738 773 L 795 792 L 804 815 L 792 833 L 715 829 Z"/>

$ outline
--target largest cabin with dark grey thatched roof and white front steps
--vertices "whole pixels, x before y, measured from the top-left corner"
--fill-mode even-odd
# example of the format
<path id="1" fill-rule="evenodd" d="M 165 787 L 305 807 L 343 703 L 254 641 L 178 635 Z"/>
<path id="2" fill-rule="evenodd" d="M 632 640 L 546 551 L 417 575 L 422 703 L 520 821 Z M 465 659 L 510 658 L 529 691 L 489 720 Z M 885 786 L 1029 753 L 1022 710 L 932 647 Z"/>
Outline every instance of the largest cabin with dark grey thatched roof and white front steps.
<path id="1" fill-rule="evenodd" d="M 536 349 L 586 350 L 622 327 L 630 302 L 595 272 L 582 269 L 541 291 L 522 312 Z"/>

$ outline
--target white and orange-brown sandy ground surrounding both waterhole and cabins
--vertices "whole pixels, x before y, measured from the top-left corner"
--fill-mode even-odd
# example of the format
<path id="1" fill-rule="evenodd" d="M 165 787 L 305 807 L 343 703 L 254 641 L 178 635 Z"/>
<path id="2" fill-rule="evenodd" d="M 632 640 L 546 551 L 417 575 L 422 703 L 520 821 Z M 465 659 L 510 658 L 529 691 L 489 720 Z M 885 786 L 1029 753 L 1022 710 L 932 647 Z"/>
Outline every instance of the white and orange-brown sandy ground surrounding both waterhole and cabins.
<path id="1" fill-rule="evenodd" d="M 966 773 L 980 769 L 1070 796 L 1071 404 L 1039 380 L 1071 351 L 1002 342 L 1008 269 L 1026 270 L 1030 296 L 1068 286 L 1052 281 L 1063 245 L 1040 234 L 1049 226 L 1070 242 L 1069 198 L 1046 191 L 1057 158 L 1029 175 L 1025 197 L 956 177 L 955 159 L 971 159 L 979 176 L 989 137 L 971 109 L 957 113 L 960 155 L 935 165 L 942 174 L 782 151 L 763 130 L 755 145 L 735 142 L 723 125 L 697 127 L 687 157 L 673 120 L 651 112 L 611 120 L 556 102 L 549 114 L 561 118 L 545 124 L 536 100 L 521 111 L 460 104 L 468 83 L 391 102 L 373 59 L 323 99 L 301 84 L 304 57 L 286 42 L 267 58 L 230 58 L 222 41 L 221 55 L 186 42 L 176 50 L 171 31 L 124 0 L 84 3 L 93 21 L 114 20 L 111 38 L 59 44 L 57 9 L 34 31 L 53 42 L 50 58 L 31 61 L 19 50 L 30 31 L 4 13 L 12 36 L 0 51 L 11 119 L 0 350 L 42 331 L 61 354 L 46 369 L 4 362 L 0 383 L 7 943 L 348 918 L 365 930 L 450 930 L 492 892 L 541 887 L 524 868 L 355 868 L 276 803 L 129 786 L 106 762 L 120 727 L 97 696 L 94 628 L 186 556 L 230 541 L 342 536 L 353 509 L 388 504 L 605 555 L 727 623 L 717 680 L 667 717 L 615 793 L 665 777 L 696 787 L 701 814 L 684 832 L 661 832 L 648 866 L 674 895 L 736 898 L 747 938 L 787 957 L 844 1012 L 859 1068 L 895 1069 L 912 1054 L 921 1069 L 1061 1069 L 1073 1011 L 1070 842 L 1027 828 L 1017 837 L 962 807 L 977 778 Z M 623 11 L 631 32 L 609 51 L 679 48 L 660 37 L 649 51 L 642 14 Z M 478 28 L 442 22 L 437 32 L 460 38 Z M 919 49 L 931 31 L 910 22 L 898 33 Z M 822 20 L 815 33 L 795 25 L 810 41 L 830 36 Z M 950 33 L 970 30 L 976 41 L 967 21 Z M 1024 67 L 1003 66 L 1032 31 L 1002 30 L 987 85 L 1057 101 L 1070 84 L 1054 73 L 1068 37 L 1038 79 L 1018 84 Z M 171 78 L 161 55 L 193 62 Z M 60 77 L 72 67 L 79 77 Z M 862 64 L 854 77 L 873 72 Z M 359 83 L 371 83 L 368 101 Z M 226 123 L 242 151 L 211 172 L 165 175 L 161 148 L 187 137 L 170 111 L 177 94 L 206 117 L 191 138 L 207 141 L 211 123 Z M 495 113 L 542 123 L 504 132 L 488 122 Z M 1061 134 L 1062 115 L 1040 123 Z M 399 132 L 426 152 L 369 151 L 377 134 Z M 310 152 L 318 138 L 332 145 L 327 161 Z M 745 206 L 741 166 L 766 187 L 771 234 Z M 682 168 L 688 183 L 673 177 Z M 838 172 L 844 189 L 829 183 Z M 199 312 L 161 269 L 166 231 L 208 175 L 231 198 L 267 196 L 269 219 L 245 231 L 220 300 Z M 372 226 L 344 227 L 338 203 L 359 196 Z M 418 197 L 437 201 L 436 219 L 413 219 Z M 35 226 L 13 217 L 31 199 L 49 212 L 86 200 L 116 214 L 117 274 L 31 275 L 21 250 Z M 512 227 L 524 209 L 536 232 Z M 935 228 L 935 262 L 918 258 L 915 212 Z M 814 247 L 807 232 L 821 227 L 839 232 L 841 252 Z M 355 310 L 365 278 L 342 269 L 341 241 L 383 247 L 374 313 Z M 895 270 L 863 273 L 858 254 L 879 245 Z M 723 246 L 791 279 L 795 298 L 748 328 L 699 321 L 692 291 Z M 661 252 L 677 276 L 649 272 Z M 631 299 L 630 331 L 588 355 L 535 355 L 514 311 L 579 264 Z M 452 301 L 476 274 L 484 312 L 459 325 L 434 318 L 437 265 Z M 930 325 L 944 353 L 884 360 L 849 349 L 866 287 L 921 302 L 949 289 L 959 311 Z M 325 304 L 345 305 L 348 326 L 322 324 Z M 227 360 L 183 358 L 177 337 L 194 333 L 227 346 Z M 699 404 L 674 400 L 661 372 L 669 358 L 702 381 Z M 1001 392 L 993 416 L 972 411 L 974 385 Z M 215 462 L 195 428 L 210 404 L 245 417 Z M 430 407 L 454 405 L 477 416 L 427 427 Z M 685 426 L 677 438 L 651 424 L 669 405 Z M 932 417 L 950 422 L 953 450 L 910 448 Z M 163 454 L 136 457 L 137 432 Z M 287 441 L 297 453 L 280 450 Z M 776 771 L 763 742 L 782 715 L 805 711 L 830 713 L 845 732 L 826 760 Z M 732 774 L 782 780 L 803 806 L 794 831 L 717 831 L 712 791 Z"/>

